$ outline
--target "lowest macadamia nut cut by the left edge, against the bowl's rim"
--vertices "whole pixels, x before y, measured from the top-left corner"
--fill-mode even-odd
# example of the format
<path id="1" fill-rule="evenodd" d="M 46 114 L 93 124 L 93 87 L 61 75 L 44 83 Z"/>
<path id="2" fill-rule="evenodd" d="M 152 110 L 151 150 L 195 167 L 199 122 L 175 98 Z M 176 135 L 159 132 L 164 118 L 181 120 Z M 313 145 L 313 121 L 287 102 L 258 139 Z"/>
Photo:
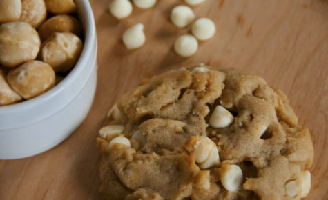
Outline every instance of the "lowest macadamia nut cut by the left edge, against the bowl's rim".
<path id="1" fill-rule="evenodd" d="M 0 69 L 0 106 L 21 101 L 21 96 L 17 94 L 6 81 L 6 74 Z"/>

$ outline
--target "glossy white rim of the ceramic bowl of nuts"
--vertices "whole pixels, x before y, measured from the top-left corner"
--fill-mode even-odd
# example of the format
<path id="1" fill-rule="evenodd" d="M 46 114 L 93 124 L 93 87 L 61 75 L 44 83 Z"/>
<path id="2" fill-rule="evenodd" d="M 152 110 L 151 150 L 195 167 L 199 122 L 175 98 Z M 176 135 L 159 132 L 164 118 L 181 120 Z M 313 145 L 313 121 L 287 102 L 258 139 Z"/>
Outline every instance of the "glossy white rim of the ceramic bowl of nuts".
<path id="1" fill-rule="evenodd" d="M 73 69 L 68 73 L 68 75 L 57 84 L 57 86 L 51 88 L 50 90 L 44 92 L 37 97 L 32 99 L 28 99 L 26 101 L 21 101 L 19 103 L 13 103 L 6 106 L 0 106 L 0 112 L 10 112 L 13 110 L 20 110 L 26 108 L 32 108 L 37 106 L 40 101 L 47 101 L 51 99 L 55 95 L 64 90 L 67 86 L 69 86 L 73 81 L 75 81 L 76 77 L 79 76 L 80 72 L 84 70 L 84 63 L 88 61 L 88 57 L 92 54 L 94 41 L 95 41 L 95 20 L 93 17 L 93 10 L 90 6 L 88 0 L 77 0 L 78 6 L 80 6 L 81 12 L 86 14 L 85 21 L 82 24 L 84 26 L 84 47 L 79 56 L 79 59 Z M 79 13 L 78 13 L 79 15 Z M 79 17 L 81 20 L 81 17 Z"/>

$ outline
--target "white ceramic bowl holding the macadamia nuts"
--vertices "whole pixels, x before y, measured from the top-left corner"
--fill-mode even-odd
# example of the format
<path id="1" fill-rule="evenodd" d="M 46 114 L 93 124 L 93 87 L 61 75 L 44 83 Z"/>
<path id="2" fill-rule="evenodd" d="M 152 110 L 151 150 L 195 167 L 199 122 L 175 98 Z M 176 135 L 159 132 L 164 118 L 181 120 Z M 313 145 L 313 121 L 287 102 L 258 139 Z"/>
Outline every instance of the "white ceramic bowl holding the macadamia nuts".
<path id="1" fill-rule="evenodd" d="M 84 49 L 63 81 L 39 97 L 0 106 L 0 159 L 44 152 L 64 141 L 84 120 L 95 96 L 97 39 L 88 0 L 77 0 Z"/>

